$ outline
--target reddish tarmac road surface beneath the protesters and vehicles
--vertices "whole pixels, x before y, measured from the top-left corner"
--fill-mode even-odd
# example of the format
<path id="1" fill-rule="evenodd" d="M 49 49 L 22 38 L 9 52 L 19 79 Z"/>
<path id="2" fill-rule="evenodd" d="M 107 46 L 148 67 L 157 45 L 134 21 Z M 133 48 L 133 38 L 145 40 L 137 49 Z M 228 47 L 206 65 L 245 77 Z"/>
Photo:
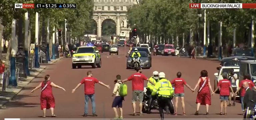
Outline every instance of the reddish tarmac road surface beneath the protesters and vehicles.
<path id="1" fill-rule="evenodd" d="M 111 98 L 114 79 L 117 74 L 120 74 L 122 79 L 128 78 L 131 74 L 135 73 L 134 70 L 126 70 L 125 53 L 127 48 L 121 48 L 119 55 L 108 55 L 102 53 L 102 67 L 91 69 L 72 69 L 71 58 L 62 59 L 55 64 L 47 65 L 44 70 L 36 79 L 34 79 L 26 88 L 22 90 L 15 99 L 6 105 L 6 109 L 0 110 L 0 119 L 3 118 L 39 118 L 42 116 L 40 110 L 40 89 L 33 94 L 29 92 L 35 88 L 46 74 L 51 75 L 51 81 L 55 84 L 66 89 L 64 92 L 61 89 L 53 88 L 56 107 L 55 114 L 57 118 L 114 118 L 114 112 L 111 108 L 113 98 Z M 194 88 L 200 76 L 201 70 L 207 70 L 212 87 L 214 86 L 214 73 L 217 72 L 216 67 L 219 62 L 210 60 L 190 60 L 189 58 L 179 58 L 172 56 L 152 56 L 152 67 L 148 70 L 143 70 L 148 78 L 152 76 L 153 71 L 164 72 L 166 78 L 170 81 L 176 77 L 178 71 L 182 72 L 182 78 Z M 86 66 L 87 67 L 87 66 Z M 99 84 L 95 87 L 96 96 L 96 113 L 98 117 L 87 116 L 83 117 L 84 113 L 84 87 L 78 88 L 75 93 L 71 90 L 86 76 L 86 72 L 91 70 L 94 77 L 107 85 L 111 85 L 111 89 L 107 89 Z M 146 86 L 146 81 L 144 82 Z M 157 110 L 152 110 L 153 114 L 144 114 L 144 116 L 131 116 L 133 112 L 131 105 L 131 82 L 126 82 L 128 85 L 128 96 L 125 97 L 123 102 L 124 118 L 160 118 Z M 196 111 L 196 93 L 193 94 L 188 88 L 185 87 L 185 107 L 187 116 L 183 115 L 165 115 L 165 118 L 242 118 L 241 104 L 237 103 L 236 106 L 228 107 L 228 115 L 219 115 L 220 101 L 219 95 L 212 96 L 212 105 L 209 107 L 209 116 L 202 115 L 206 113 L 205 106 L 201 106 L 199 113 L 201 115 L 194 115 Z M 175 101 L 173 101 L 175 102 Z M 88 115 L 92 115 L 91 103 L 89 102 Z M 139 112 L 138 104 L 136 108 Z M 224 111 L 223 111 L 224 112 Z M 179 102 L 178 114 L 182 114 L 181 103 Z M 47 110 L 47 115 L 50 116 L 50 110 Z"/>

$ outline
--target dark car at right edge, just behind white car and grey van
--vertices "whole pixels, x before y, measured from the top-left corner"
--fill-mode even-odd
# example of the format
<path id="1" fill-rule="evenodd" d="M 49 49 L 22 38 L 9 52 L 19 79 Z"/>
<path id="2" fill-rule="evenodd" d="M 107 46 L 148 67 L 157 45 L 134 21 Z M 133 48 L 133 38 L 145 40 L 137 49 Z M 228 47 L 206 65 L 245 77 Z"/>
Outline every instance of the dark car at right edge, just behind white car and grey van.
<path id="1" fill-rule="evenodd" d="M 226 57 L 222 58 L 220 66 L 240 66 L 240 62 L 242 60 L 256 60 L 254 57 L 246 57 L 246 56 L 235 56 L 235 57 Z M 217 67 L 217 70 L 219 70 L 220 67 Z"/>

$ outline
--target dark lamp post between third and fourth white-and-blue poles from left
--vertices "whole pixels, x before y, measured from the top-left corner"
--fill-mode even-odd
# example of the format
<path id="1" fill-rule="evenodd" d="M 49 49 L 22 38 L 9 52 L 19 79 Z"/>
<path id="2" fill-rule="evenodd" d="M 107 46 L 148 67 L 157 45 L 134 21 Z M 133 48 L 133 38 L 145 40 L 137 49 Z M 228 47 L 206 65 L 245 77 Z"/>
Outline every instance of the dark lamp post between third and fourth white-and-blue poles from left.
<path id="1" fill-rule="evenodd" d="M 43 20 L 42 20 L 42 45 L 41 45 L 41 49 L 45 53 L 45 57 L 44 58 L 42 57 L 43 63 L 48 63 L 46 47 L 47 47 L 47 45 L 46 45 L 46 35 L 45 35 L 45 18 L 43 17 Z"/>

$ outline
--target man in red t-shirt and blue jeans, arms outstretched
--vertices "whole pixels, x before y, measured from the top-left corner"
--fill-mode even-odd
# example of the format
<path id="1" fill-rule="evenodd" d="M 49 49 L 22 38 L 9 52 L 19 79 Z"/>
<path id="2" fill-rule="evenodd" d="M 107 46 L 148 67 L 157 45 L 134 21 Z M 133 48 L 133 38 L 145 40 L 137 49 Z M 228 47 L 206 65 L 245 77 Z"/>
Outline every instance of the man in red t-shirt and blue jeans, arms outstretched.
<path id="1" fill-rule="evenodd" d="M 84 117 L 87 116 L 89 99 L 91 99 L 91 102 L 92 102 L 93 116 L 98 116 L 95 111 L 95 109 L 96 109 L 95 95 L 94 95 L 95 83 L 99 83 L 99 84 L 107 87 L 108 89 L 110 89 L 109 85 L 105 85 L 104 83 L 98 81 L 96 78 L 92 77 L 92 71 L 88 71 L 87 77 L 83 78 L 83 80 L 76 86 L 76 88 L 72 90 L 72 93 L 74 93 L 77 88 L 79 88 L 82 84 L 84 84 L 84 96 L 85 96 Z"/>

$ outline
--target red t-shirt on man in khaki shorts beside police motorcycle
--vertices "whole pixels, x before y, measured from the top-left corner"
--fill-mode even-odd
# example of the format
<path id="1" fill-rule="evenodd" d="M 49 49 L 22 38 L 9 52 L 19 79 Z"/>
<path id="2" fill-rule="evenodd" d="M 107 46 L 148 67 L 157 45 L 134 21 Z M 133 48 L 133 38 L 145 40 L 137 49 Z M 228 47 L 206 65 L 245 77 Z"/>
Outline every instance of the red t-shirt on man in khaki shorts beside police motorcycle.
<path id="1" fill-rule="evenodd" d="M 144 91 L 144 80 L 147 80 L 148 78 L 141 73 L 134 73 L 127 79 L 132 81 L 132 90 Z"/>

